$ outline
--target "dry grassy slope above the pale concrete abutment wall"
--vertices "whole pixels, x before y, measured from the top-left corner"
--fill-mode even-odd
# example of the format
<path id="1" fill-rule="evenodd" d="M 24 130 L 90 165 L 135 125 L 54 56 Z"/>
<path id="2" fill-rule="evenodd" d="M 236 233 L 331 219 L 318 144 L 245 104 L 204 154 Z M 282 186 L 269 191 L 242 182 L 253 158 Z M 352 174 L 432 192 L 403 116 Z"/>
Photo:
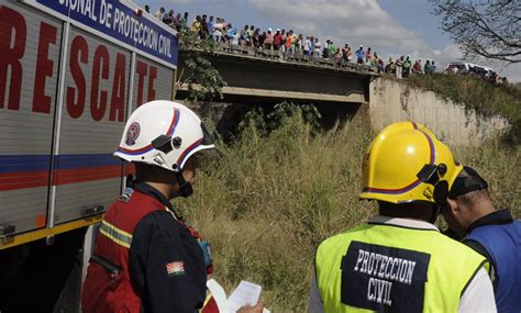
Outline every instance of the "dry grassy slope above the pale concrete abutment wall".
<path id="1" fill-rule="evenodd" d="M 513 85 L 494 86 L 481 78 L 462 75 L 414 75 L 410 81 L 421 88 L 432 90 L 463 103 L 478 114 L 499 114 L 511 125 L 506 135 L 509 143 L 521 144 L 521 89 Z"/>

